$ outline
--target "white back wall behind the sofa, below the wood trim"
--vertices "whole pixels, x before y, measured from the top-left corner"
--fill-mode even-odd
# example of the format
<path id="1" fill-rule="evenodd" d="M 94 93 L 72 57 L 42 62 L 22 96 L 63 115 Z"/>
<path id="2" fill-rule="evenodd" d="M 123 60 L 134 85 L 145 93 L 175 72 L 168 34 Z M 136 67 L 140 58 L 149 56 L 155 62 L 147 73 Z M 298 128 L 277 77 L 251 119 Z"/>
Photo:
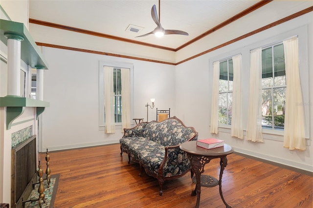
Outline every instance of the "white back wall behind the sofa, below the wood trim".
<path id="1" fill-rule="evenodd" d="M 99 61 L 134 64 L 134 118 L 156 120 L 156 107 L 175 115 L 175 66 L 43 47 L 49 69 L 44 72 L 42 151 L 118 143 L 120 130 L 99 130 Z"/>

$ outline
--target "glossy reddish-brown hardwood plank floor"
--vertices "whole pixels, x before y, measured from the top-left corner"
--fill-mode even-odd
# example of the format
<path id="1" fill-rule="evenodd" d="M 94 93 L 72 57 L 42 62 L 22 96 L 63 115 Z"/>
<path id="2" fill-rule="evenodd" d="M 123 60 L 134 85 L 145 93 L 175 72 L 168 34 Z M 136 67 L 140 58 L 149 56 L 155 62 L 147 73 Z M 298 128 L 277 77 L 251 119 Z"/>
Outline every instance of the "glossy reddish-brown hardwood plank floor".
<path id="1" fill-rule="evenodd" d="M 119 144 L 49 152 L 51 174 L 60 173 L 55 208 L 194 208 L 190 173 L 165 182 L 158 195 L 155 178 L 139 176 Z M 227 156 L 222 190 L 233 208 L 312 208 L 313 177 L 238 154 Z M 45 153 L 39 154 L 42 164 Z M 45 171 L 45 165 L 42 166 Z M 219 160 L 204 174 L 219 176 Z M 201 187 L 200 208 L 224 208 L 219 187 Z"/>

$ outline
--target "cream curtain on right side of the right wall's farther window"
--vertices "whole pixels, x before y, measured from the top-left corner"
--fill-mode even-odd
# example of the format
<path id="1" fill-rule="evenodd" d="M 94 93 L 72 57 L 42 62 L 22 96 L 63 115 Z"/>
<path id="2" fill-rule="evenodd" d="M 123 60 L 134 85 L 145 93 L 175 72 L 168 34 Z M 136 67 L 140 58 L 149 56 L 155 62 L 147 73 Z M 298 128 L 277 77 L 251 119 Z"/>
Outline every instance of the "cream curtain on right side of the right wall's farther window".
<path id="1" fill-rule="evenodd" d="M 231 136 L 244 139 L 241 88 L 241 55 L 234 56 L 233 101 L 231 110 Z"/>

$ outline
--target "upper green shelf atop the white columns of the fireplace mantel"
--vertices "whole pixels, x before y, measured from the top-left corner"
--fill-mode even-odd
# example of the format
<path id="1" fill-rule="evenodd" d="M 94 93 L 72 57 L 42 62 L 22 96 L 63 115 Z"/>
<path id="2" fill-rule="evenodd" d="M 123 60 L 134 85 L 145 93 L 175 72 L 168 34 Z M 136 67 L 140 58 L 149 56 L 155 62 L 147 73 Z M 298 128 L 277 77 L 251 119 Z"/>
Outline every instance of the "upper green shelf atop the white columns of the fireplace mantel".
<path id="1" fill-rule="evenodd" d="M 7 45 L 7 37 L 19 36 L 21 41 L 21 59 L 32 68 L 48 69 L 39 47 L 21 22 L 0 20 L 0 40 Z"/>

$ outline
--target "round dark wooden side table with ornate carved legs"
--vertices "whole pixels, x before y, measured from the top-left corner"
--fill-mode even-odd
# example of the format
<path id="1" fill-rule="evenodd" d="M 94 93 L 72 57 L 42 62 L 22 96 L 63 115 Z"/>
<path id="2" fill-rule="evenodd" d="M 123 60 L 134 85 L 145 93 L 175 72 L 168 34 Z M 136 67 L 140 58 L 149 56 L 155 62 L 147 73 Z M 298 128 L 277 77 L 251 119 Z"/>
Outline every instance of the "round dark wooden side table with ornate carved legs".
<path id="1" fill-rule="evenodd" d="M 193 181 L 196 181 L 196 188 L 191 192 L 191 195 L 197 195 L 197 204 L 196 208 L 199 208 L 200 205 L 200 194 L 201 194 L 201 184 L 206 187 L 214 187 L 219 185 L 220 195 L 224 202 L 226 208 L 231 208 L 224 200 L 222 192 L 222 176 L 224 168 L 227 166 L 226 156 L 233 153 L 234 149 L 224 144 L 224 146 L 205 149 L 200 146 L 197 146 L 197 141 L 189 141 L 181 144 L 179 148 L 187 153 L 187 156 L 191 162 L 191 169 L 195 173 L 196 177 Z M 204 172 L 205 164 L 209 163 L 212 159 L 220 158 L 221 170 L 220 170 L 220 179 L 217 180 L 212 176 L 202 175 Z M 202 180 L 202 181 L 201 181 Z"/>

